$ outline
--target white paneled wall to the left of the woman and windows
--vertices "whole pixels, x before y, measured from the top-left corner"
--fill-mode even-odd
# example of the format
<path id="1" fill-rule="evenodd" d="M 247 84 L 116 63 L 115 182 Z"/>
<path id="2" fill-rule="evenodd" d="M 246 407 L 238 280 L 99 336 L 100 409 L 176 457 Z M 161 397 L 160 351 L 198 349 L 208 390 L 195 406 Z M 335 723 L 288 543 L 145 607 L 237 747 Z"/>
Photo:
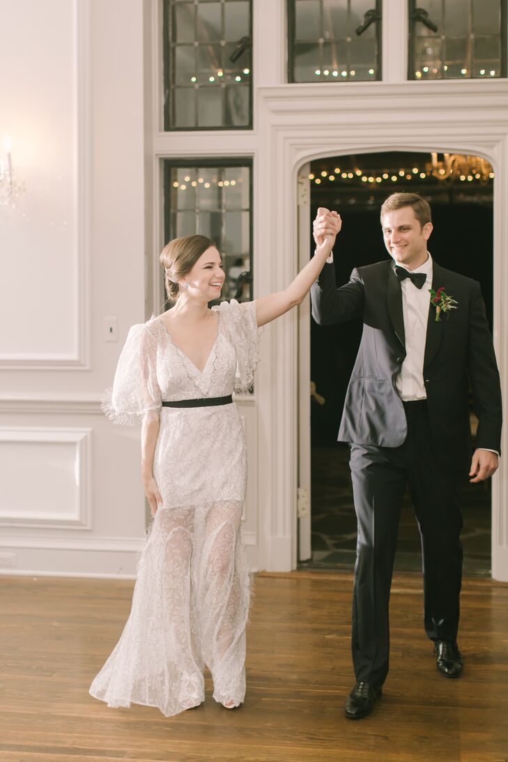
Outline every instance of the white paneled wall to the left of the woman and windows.
<path id="1" fill-rule="evenodd" d="M 142 0 L 1 11 L 0 139 L 27 191 L 0 209 L 0 570 L 133 575 L 139 432 L 99 399 L 145 319 Z"/>

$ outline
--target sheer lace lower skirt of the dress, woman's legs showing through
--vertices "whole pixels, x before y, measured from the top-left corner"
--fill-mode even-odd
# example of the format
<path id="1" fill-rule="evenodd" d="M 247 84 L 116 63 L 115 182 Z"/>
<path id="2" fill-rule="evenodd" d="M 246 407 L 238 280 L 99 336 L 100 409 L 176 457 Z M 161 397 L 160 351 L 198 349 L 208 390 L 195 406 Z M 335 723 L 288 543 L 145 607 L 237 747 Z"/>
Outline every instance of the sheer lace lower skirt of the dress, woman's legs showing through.
<path id="1" fill-rule="evenodd" d="M 245 695 L 249 573 L 242 504 L 159 509 L 138 568 L 120 641 L 91 685 L 108 706 L 156 706 L 165 716 L 200 704 L 203 669 L 213 698 Z"/>

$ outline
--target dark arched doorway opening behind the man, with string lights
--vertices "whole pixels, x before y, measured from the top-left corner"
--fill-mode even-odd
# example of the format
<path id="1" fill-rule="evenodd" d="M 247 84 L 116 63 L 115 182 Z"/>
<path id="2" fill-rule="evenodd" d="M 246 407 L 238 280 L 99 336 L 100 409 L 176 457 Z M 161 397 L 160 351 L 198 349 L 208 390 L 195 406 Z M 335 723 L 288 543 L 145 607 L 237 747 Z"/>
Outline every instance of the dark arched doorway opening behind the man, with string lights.
<path id="1" fill-rule="evenodd" d="M 426 198 L 433 210 L 429 242 L 443 267 L 481 283 L 492 328 L 494 173 L 479 157 L 382 152 L 318 159 L 311 165 L 311 214 L 336 209 L 343 229 L 334 249 L 337 285 L 353 267 L 388 258 L 379 209 L 395 191 Z M 350 483 L 349 449 L 337 443 L 347 383 L 359 347 L 362 322 L 321 327 L 311 319 L 312 561 L 318 568 L 353 568 L 356 515 Z M 323 402 L 324 400 L 324 402 Z M 471 408 L 471 433 L 475 418 Z M 490 480 L 465 485 L 462 494 L 466 574 L 490 575 Z M 395 559 L 398 571 L 421 568 L 420 535 L 414 509 L 404 500 Z"/>

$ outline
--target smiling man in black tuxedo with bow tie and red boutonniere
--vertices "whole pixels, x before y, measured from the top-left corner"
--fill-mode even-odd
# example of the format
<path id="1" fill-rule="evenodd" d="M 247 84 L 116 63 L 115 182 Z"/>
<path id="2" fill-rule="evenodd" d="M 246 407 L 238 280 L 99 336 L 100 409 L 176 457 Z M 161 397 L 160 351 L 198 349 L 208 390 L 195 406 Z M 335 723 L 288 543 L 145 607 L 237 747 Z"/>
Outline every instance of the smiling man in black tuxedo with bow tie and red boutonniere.
<path id="1" fill-rule="evenodd" d="M 325 264 L 311 291 L 319 325 L 363 316 L 338 435 L 350 443 L 358 520 L 350 719 L 372 712 L 388 674 L 388 604 L 406 485 L 421 535 L 425 630 L 439 672 L 462 673 L 458 490 L 468 473 L 471 482 L 491 476 L 500 455 L 500 380 L 479 284 L 433 261 L 430 206 L 417 194 L 388 197 L 381 224 L 391 261 L 353 270 L 340 288 Z M 318 210 L 318 245 L 339 230 L 337 213 Z M 472 460 L 469 386 L 479 421 Z"/>

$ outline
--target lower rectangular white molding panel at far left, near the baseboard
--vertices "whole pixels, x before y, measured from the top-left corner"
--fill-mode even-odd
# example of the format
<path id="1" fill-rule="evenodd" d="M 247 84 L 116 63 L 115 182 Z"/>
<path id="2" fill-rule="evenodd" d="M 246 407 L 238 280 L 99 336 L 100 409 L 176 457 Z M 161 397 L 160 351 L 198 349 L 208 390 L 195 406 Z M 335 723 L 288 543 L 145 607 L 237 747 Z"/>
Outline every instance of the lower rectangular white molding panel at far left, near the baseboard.
<path id="1" fill-rule="evenodd" d="M 91 429 L 0 428 L 0 525 L 91 528 Z"/>

